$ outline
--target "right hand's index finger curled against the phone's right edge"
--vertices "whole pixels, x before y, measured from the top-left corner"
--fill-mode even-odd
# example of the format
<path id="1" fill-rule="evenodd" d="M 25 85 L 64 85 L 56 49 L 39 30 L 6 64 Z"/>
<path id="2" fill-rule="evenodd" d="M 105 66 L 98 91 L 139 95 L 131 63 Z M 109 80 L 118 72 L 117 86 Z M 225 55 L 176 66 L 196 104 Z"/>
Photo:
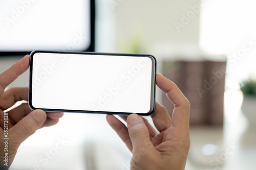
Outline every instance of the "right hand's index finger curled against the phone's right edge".
<path id="1" fill-rule="evenodd" d="M 172 116 L 173 126 L 189 127 L 190 104 L 177 85 L 160 74 L 156 76 L 157 86 L 166 93 L 168 99 L 174 104 Z"/>

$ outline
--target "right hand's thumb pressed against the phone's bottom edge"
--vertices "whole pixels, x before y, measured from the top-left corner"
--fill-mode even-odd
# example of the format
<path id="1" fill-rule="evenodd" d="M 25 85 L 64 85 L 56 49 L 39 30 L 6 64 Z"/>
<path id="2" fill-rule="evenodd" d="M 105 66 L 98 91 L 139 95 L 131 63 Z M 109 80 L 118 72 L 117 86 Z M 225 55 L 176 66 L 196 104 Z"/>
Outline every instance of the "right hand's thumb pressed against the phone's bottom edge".
<path id="1" fill-rule="evenodd" d="M 153 148 L 150 134 L 142 117 L 131 114 L 126 119 L 130 139 L 133 144 L 133 153 L 139 153 Z"/>

